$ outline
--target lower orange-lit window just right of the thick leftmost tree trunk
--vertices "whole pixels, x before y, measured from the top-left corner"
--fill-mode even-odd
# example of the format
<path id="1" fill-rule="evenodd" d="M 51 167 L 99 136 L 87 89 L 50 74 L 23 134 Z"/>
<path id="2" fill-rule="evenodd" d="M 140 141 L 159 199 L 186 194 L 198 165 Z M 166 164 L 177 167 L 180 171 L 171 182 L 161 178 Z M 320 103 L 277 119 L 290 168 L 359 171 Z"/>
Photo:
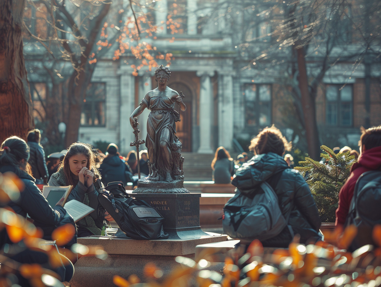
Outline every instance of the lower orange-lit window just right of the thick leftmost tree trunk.
<path id="1" fill-rule="evenodd" d="M 36 122 L 43 122 L 46 117 L 46 84 L 30 82 L 29 88 L 33 103 L 33 118 Z"/>

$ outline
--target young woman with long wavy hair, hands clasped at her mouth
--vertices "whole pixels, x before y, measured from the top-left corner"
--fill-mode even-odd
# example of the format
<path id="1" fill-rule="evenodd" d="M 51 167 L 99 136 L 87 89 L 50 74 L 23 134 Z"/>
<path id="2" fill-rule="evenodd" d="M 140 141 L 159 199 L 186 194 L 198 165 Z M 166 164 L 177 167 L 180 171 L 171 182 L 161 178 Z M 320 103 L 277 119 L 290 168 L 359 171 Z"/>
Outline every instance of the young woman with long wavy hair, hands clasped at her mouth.
<path id="1" fill-rule="evenodd" d="M 91 150 L 90 145 L 71 144 L 58 171 L 53 173 L 48 183 L 49 186 L 74 186 L 67 202 L 75 199 L 94 208 L 90 215 L 77 222 L 78 237 L 101 235 L 103 218 L 98 218 L 96 212 L 98 207 L 97 189 L 101 186 L 94 187 L 94 184 L 100 182 L 96 182 L 100 175 L 96 168 L 95 158 L 96 154 Z"/>

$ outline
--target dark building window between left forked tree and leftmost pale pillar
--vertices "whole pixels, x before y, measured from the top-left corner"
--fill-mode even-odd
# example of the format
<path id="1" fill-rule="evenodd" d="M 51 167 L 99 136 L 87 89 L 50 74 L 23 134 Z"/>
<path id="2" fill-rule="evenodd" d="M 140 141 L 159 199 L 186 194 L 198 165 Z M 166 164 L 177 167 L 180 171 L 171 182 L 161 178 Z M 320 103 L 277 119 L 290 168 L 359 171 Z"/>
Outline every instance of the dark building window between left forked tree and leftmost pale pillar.
<path id="1" fill-rule="evenodd" d="M 81 126 L 106 125 L 106 83 L 90 83 L 83 100 Z"/>

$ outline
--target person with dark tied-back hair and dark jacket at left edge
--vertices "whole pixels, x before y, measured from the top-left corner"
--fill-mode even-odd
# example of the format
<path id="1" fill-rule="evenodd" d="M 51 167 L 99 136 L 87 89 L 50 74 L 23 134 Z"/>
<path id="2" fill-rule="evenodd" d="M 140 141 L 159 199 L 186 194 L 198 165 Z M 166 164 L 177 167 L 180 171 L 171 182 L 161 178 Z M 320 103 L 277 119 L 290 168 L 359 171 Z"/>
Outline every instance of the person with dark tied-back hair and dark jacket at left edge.
<path id="1" fill-rule="evenodd" d="M 54 208 L 49 205 L 48 201 L 40 192 L 40 189 L 35 185 L 35 179 L 30 175 L 28 159 L 29 146 L 23 139 L 12 136 L 2 143 L 0 149 L 0 173 L 14 173 L 24 185 L 18 199 L 12 197 L 8 202 L 8 208 L 11 208 L 15 213 L 24 218 L 28 215 L 33 220 L 33 224 L 43 231 L 55 229 L 61 225 L 60 223 L 62 222 L 71 223 L 75 226 L 73 218 L 66 213 L 66 210 L 60 205 L 63 198 Z M 44 234 L 44 239 L 52 240 L 51 234 Z M 74 237 L 72 243 L 75 242 L 76 237 Z M 70 261 L 66 257 L 62 256 L 62 259 L 64 259 L 68 265 L 53 268 L 49 263 L 47 253 L 27 249 L 23 240 L 14 243 L 8 236 L 7 229 L 5 228 L 0 232 L 0 246 L 2 254 L 6 257 L 19 263 L 40 264 L 42 267 L 58 273 L 61 276 L 61 281 L 70 281 L 74 274 L 74 266 L 69 263 Z M 2 264 L 7 265 L 6 261 L 2 261 Z M 16 275 L 19 280 L 18 285 L 30 286 L 26 278 L 20 274 Z"/>

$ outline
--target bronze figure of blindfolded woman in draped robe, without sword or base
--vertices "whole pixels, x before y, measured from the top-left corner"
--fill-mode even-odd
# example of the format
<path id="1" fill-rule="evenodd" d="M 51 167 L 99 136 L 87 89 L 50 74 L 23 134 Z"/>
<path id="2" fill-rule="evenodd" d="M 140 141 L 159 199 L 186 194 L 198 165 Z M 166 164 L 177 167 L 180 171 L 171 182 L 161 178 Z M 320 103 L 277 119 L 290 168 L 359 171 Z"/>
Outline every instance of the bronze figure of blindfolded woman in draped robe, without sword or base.
<path id="1" fill-rule="evenodd" d="M 184 95 L 167 87 L 171 72 L 168 67 L 161 65 L 155 71 L 155 80 L 158 87 L 149 91 L 142 99 L 140 105 L 130 116 L 131 126 L 136 125 L 134 118 L 144 109 L 149 109 L 147 120 L 146 147 L 148 150 L 150 181 L 166 181 L 180 179 L 182 176 L 181 143 L 176 136 L 176 122 L 179 114 L 174 110 L 174 104 L 180 106 L 181 111 L 186 110 L 182 101 Z"/>

